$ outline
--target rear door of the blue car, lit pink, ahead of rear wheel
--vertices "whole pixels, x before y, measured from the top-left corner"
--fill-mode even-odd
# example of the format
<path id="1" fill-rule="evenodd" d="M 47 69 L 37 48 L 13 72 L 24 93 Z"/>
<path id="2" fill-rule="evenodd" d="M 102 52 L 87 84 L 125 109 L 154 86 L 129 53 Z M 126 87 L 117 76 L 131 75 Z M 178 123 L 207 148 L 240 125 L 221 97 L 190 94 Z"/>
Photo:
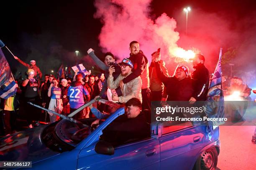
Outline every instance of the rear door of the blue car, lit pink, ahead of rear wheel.
<path id="1" fill-rule="evenodd" d="M 204 132 L 205 126 L 193 127 L 189 122 L 163 127 L 159 138 L 160 169 L 189 170 L 204 146 Z"/>

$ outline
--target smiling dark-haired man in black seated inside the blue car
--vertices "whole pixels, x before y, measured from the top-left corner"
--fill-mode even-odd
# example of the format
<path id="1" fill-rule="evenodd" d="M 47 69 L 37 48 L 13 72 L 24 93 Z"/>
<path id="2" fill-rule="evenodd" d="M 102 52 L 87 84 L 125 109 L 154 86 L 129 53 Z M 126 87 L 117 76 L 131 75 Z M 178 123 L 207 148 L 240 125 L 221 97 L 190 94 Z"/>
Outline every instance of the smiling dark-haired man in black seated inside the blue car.
<path id="1" fill-rule="evenodd" d="M 95 120 L 92 126 L 99 122 L 100 119 Z M 150 124 L 145 112 L 141 111 L 141 101 L 137 98 L 128 100 L 125 103 L 125 114 L 111 122 L 102 133 L 100 138 L 114 146 L 150 137 Z"/>

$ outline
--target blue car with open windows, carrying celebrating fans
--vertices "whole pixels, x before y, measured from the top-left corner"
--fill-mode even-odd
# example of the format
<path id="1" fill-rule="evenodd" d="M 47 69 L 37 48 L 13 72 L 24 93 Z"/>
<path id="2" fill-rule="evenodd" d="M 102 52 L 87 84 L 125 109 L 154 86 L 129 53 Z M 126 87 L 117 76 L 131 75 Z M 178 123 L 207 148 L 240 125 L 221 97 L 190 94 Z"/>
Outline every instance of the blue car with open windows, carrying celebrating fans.
<path id="1" fill-rule="evenodd" d="M 119 108 L 97 128 L 96 118 L 74 123 L 60 120 L 0 139 L 0 160 L 32 161 L 35 170 L 214 170 L 220 152 L 219 129 L 211 140 L 206 126 L 185 122 L 151 125 L 151 137 L 113 146 L 100 138 L 125 112 Z M 103 131 L 102 131 L 103 130 Z M 121 130 L 120 130 L 121 131 Z"/>

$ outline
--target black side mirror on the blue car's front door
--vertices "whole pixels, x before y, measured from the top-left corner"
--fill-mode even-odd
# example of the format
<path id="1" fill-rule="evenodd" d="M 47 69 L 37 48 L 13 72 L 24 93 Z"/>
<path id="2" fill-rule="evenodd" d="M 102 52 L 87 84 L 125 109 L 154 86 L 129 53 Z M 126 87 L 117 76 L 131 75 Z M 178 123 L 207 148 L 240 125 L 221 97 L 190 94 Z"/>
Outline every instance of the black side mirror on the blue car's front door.
<path id="1" fill-rule="evenodd" d="M 110 143 L 100 140 L 95 145 L 95 152 L 103 155 L 114 155 L 115 149 Z"/>

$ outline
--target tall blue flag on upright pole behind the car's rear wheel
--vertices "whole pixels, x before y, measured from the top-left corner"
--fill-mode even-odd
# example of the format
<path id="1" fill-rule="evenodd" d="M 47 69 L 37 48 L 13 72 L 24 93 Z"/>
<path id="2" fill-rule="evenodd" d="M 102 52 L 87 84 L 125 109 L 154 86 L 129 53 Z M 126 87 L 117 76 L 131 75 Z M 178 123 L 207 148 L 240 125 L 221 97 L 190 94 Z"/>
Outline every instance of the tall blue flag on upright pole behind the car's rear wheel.
<path id="1" fill-rule="evenodd" d="M 207 100 L 203 107 L 207 117 L 210 118 L 224 118 L 224 95 L 221 80 L 221 56 L 222 48 L 220 48 L 219 61 L 215 68 L 212 80 L 210 82 L 209 90 L 207 93 Z M 208 137 L 211 139 L 215 126 L 222 125 L 221 121 L 209 121 L 207 132 Z"/>

